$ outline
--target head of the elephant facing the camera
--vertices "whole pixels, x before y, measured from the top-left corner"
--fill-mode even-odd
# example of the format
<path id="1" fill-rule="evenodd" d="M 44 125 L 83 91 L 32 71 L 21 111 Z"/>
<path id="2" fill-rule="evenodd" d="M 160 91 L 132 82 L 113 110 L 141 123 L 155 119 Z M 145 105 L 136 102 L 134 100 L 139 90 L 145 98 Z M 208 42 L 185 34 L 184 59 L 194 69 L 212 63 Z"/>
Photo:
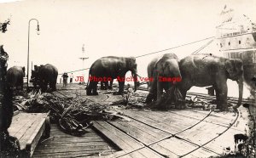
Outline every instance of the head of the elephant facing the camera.
<path id="1" fill-rule="evenodd" d="M 180 77 L 181 73 L 178 66 L 178 58 L 176 54 L 164 54 L 154 65 L 154 71 L 158 76 Z M 176 84 L 177 82 L 173 82 Z"/>

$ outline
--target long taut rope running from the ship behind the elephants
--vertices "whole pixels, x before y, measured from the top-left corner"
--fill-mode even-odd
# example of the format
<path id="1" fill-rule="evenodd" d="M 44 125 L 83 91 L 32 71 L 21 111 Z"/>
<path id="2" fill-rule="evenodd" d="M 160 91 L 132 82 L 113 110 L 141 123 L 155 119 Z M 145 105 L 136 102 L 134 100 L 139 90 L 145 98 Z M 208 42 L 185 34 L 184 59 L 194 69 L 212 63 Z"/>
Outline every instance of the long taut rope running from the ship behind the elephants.
<path id="1" fill-rule="evenodd" d="M 211 39 L 211 38 L 214 38 L 214 37 L 207 37 L 207 38 L 204 38 L 204 39 L 195 41 L 195 42 L 188 42 L 188 43 L 185 43 L 185 44 L 181 44 L 181 45 L 178 45 L 178 46 L 173 47 L 173 48 L 166 48 L 166 49 L 163 49 L 163 50 L 160 50 L 160 51 L 156 51 L 156 52 L 152 52 L 152 53 L 149 53 L 149 54 L 139 55 L 139 56 L 136 56 L 135 58 L 141 58 L 141 57 L 143 57 L 143 56 L 148 56 L 148 55 L 151 55 L 151 54 L 159 54 L 159 53 L 165 52 L 165 51 L 167 51 L 167 50 L 171 50 L 171 49 L 174 49 L 174 48 L 181 48 L 181 47 L 183 47 L 183 46 L 188 46 L 188 45 L 194 44 L 194 43 L 196 43 L 196 42 L 202 42 L 202 41 L 205 41 L 205 40 Z M 212 41 L 213 41 L 213 39 L 212 39 Z M 211 42 L 212 42 L 212 41 L 211 41 Z M 208 42 L 207 45 L 209 45 L 211 42 Z M 207 45 L 204 46 L 204 48 L 207 47 Z M 197 50 L 196 50 L 196 51 L 197 51 Z M 195 51 L 195 52 L 196 52 L 196 51 Z M 201 50 L 200 50 L 200 51 L 201 51 Z M 193 53 L 193 54 L 194 54 L 194 53 Z M 80 70 L 78 70 L 78 71 L 85 71 L 85 70 L 89 70 L 89 69 L 90 69 L 90 67 L 89 67 L 89 68 L 85 68 L 85 69 L 80 69 Z M 72 73 L 72 72 L 77 72 L 77 71 L 68 71 L 68 72 L 66 72 L 66 73 Z M 59 74 L 59 75 L 62 75 L 62 74 Z"/>

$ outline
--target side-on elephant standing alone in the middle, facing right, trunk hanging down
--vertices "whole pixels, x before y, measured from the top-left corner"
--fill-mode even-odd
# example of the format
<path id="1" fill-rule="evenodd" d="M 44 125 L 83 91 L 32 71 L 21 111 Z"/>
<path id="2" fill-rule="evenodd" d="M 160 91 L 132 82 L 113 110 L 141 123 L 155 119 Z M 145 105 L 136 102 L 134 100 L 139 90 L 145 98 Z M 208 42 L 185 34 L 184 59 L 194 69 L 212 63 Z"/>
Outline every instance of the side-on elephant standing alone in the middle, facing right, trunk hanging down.
<path id="1" fill-rule="evenodd" d="M 134 79 L 134 91 L 137 90 L 137 63 L 134 57 L 116 57 L 107 56 L 97 59 L 91 66 L 89 71 L 89 78 L 86 87 L 87 95 L 97 95 L 97 83 L 113 82 L 117 79 L 119 82 L 119 92 L 113 94 L 123 94 L 125 87 L 125 74 L 131 71 Z M 108 79 L 108 80 L 107 80 Z"/>

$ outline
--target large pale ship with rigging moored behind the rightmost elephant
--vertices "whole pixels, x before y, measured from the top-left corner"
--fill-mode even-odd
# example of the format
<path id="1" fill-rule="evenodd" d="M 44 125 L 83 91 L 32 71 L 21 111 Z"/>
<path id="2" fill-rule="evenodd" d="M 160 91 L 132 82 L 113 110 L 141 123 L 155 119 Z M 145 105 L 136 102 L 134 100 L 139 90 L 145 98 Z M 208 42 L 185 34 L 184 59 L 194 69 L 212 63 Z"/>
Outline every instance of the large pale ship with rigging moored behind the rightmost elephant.
<path id="1" fill-rule="evenodd" d="M 245 14 L 237 14 L 232 8 L 220 13 L 217 29 L 217 47 L 222 56 L 241 59 L 244 69 L 244 83 L 251 98 L 256 90 L 256 25 Z"/>

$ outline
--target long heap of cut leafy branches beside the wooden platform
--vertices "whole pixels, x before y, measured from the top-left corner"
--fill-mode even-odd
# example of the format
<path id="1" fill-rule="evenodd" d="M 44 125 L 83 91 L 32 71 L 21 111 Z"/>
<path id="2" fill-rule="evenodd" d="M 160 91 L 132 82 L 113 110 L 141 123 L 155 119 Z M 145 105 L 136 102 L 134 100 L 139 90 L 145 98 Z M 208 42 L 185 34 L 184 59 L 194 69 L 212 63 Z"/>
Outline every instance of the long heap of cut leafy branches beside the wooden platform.
<path id="1" fill-rule="evenodd" d="M 15 104 L 26 112 L 48 112 L 50 119 L 64 133 L 83 135 L 94 120 L 125 119 L 107 105 L 82 97 L 58 98 L 50 93 L 32 92 L 15 98 Z"/>

